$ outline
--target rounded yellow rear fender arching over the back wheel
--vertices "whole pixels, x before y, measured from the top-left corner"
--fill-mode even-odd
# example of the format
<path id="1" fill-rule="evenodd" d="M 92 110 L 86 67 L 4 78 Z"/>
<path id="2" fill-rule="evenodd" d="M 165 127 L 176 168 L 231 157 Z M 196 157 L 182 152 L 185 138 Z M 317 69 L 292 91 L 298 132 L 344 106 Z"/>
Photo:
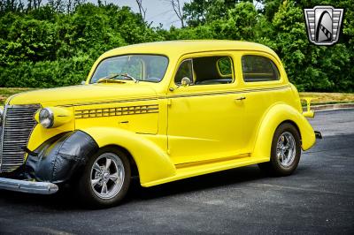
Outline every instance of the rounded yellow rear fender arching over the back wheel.
<path id="1" fill-rule="evenodd" d="M 270 157 L 273 134 L 276 128 L 285 121 L 290 121 L 297 125 L 303 150 L 307 150 L 313 146 L 316 138 L 312 126 L 307 119 L 292 106 L 278 103 L 269 108 L 262 118 L 252 155 L 259 158 Z"/>

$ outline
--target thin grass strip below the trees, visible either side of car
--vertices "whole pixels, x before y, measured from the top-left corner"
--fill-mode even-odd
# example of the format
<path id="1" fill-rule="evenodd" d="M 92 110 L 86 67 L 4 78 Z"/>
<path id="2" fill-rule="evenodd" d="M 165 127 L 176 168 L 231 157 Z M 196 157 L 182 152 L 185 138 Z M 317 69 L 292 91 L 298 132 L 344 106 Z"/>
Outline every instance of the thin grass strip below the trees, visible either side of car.
<path id="1" fill-rule="evenodd" d="M 11 95 L 30 90 L 35 90 L 35 88 L 0 87 L 0 104 L 4 104 L 6 99 Z M 300 97 L 312 97 L 312 104 L 354 102 L 354 93 L 300 92 Z M 304 105 L 306 102 L 302 101 L 302 103 Z"/>

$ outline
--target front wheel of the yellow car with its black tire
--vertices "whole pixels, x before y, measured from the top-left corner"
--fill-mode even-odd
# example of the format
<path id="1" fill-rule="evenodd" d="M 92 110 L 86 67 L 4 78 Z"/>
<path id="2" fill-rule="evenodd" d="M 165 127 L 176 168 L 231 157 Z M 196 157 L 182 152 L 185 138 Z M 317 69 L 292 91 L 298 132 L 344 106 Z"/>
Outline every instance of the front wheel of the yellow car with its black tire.
<path id="1" fill-rule="evenodd" d="M 107 159 L 111 157 L 111 164 L 107 168 L 108 171 L 106 171 L 105 166 Z M 116 159 L 117 157 L 118 159 Z M 100 166 L 101 171 L 97 171 L 96 167 L 94 168 L 94 164 Z M 122 168 L 123 171 L 121 171 Z M 114 181 L 112 179 L 116 177 L 114 170 L 117 171 L 117 178 L 119 178 L 120 173 L 123 172 L 123 177 L 120 177 L 122 180 L 117 179 L 117 181 Z M 98 183 L 96 183 L 95 186 L 91 186 L 91 183 L 94 184 L 94 180 L 96 182 L 96 178 L 100 178 Z M 130 179 L 131 170 L 127 155 L 117 148 L 100 148 L 96 155 L 93 155 L 85 165 L 78 180 L 77 189 L 82 202 L 85 203 L 84 206 L 89 206 L 90 208 L 107 208 L 118 205 L 119 202 L 124 199 L 130 185 Z M 103 189 L 104 182 L 105 190 Z M 119 184 L 115 182 L 119 182 Z M 110 192 L 110 188 L 112 192 Z M 101 193 L 99 192 L 100 190 Z M 103 193 L 104 191 L 106 193 Z"/>

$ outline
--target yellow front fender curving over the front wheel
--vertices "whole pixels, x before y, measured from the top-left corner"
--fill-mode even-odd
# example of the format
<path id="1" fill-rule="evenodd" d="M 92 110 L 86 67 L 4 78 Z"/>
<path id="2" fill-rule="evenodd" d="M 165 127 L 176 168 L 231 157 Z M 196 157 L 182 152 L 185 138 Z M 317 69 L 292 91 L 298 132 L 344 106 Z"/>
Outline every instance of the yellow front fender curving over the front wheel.
<path id="1" fill-rule="evenodd" d="M 99 148 L 108 145 L 126 148 L 135 160 L 141 184 L 176 174 L 170 157 L 155 143 L 144 138 L 142 134 L 112 127 L 89 127 L 81 131 L 88 133 Z"/>

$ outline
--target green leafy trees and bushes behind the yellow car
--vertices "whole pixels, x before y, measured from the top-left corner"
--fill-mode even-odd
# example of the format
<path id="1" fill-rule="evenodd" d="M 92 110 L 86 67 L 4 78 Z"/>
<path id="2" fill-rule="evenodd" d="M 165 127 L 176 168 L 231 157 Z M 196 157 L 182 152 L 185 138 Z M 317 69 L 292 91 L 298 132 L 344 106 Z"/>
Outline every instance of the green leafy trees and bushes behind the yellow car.
<path id="1" fill-rule="evenodd" d="M 262 0 L 258 7 L 252 1 L 163 1 L 174 6 L 183 27 L 150 27 L 145 8 L 135 13 L 101 0 L 0 0 L 0 87 L 77 84 L 104 51 L 127 44 L 231 39 L 275 50 L 299 90 L 354 92 L 352 0 Z M 334 46 L 307 39 L 303 9 L 317 4 L 346 9 Z"/>

